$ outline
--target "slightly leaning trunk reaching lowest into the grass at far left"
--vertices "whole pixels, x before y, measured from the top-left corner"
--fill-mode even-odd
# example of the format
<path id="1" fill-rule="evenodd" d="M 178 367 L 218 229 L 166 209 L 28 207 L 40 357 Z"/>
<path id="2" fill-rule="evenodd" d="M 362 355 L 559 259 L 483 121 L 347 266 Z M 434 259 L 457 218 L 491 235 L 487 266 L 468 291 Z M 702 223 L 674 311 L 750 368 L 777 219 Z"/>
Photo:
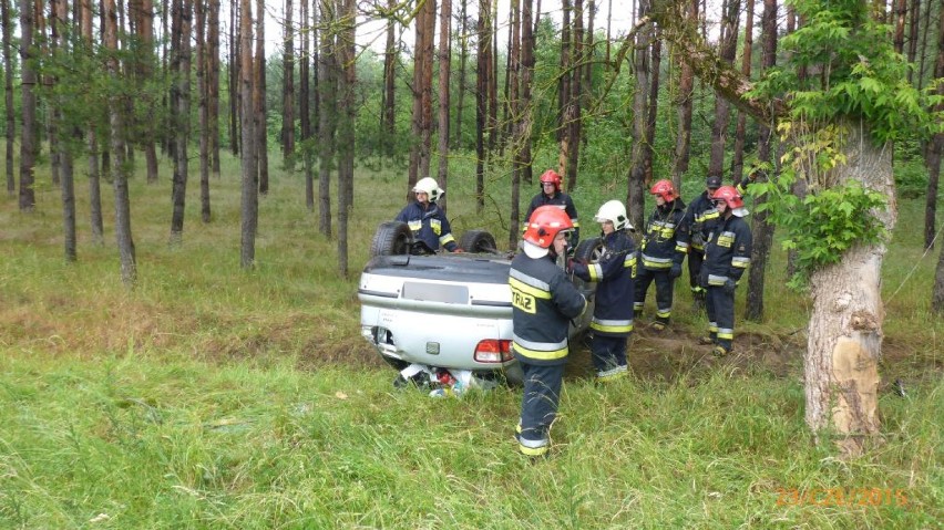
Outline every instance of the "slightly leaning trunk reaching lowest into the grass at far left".
<path id="1" fill-rule="evenodd" d="M 104 0 L 105 49 L 117 51 L 117 13 L 114 0 Z M 109 76 L 117 80 L 120 75 L 117 59 L 112 55 L 106 61 Z M 131 236 L 131 199 L 127 191 L 127 167 L 124 160 L 124 119 L 122 110 L 125 102 L 121 96 L 112 95 L 109 104 L 109 125 L 111 126 L 112 183 L 115 190 L 115 240 L 121 258 L 121 280 L 127 288 L 134 287 L 137 280 L 137 263 L 134 256 L 134 239 Z"/>

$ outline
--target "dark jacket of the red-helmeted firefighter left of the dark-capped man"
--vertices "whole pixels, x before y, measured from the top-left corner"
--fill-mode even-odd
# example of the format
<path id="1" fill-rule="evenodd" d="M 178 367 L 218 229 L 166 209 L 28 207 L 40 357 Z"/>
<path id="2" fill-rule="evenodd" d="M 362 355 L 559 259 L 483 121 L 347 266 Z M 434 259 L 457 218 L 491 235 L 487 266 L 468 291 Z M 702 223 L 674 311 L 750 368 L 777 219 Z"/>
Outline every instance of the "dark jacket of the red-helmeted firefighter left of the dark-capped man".
<path id="1" fill-rule="evenodd" d="M 681 264 L 688 253 L 686 221 L 685 202 L 680 198 L 653 210 L 643 238 L 643 267 L 668 270 L 673 263 Z"/>

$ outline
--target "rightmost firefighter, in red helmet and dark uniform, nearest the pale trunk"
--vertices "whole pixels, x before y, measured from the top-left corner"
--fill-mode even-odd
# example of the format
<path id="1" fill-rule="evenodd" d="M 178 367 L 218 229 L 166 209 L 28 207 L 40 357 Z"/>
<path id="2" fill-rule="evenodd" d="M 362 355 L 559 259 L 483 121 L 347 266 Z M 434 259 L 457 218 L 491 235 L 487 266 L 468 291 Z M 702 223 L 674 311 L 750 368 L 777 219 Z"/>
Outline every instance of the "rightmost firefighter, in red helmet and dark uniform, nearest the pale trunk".
<path id="1" fill-rule="evenodd" d="M 735 339 L 735 289 L 750 264 L 751 235 L 743 217 L 748 214 L 741 195 L 733 186 L 721 186 L 711 196 L 719 220 L 705 241 L 701 285 L 706 289 L 708 336 L 701 344 L 714 344 L 717 356 L 731 352 Z"/>

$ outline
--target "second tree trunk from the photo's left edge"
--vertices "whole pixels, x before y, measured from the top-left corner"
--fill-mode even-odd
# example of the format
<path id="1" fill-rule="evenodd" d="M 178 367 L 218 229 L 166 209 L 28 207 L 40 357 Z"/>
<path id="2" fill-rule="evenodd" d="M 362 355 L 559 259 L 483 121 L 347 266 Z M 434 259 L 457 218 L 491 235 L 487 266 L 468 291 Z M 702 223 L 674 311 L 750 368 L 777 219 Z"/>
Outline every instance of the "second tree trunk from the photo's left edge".
<path id="1" fill-rule="evenodd" d="M 20 106 L 23 113 L 23 133 L 20 138 L 20 211 L 32 211 L 37 205 L 33 189 L 33 170 L 37 156 L 37 73 L 33 70 L 33 2 L 20 0 Z"/>

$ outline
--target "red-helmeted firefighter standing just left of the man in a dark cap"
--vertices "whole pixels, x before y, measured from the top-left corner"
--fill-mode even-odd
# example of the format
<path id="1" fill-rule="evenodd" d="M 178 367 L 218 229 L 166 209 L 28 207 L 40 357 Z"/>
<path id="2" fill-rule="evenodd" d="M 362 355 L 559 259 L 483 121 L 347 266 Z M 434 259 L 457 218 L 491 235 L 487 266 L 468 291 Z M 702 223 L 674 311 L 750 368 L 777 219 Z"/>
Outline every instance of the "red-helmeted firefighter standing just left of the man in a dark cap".
<path id="1" fill-rule="evenodd" d="M 649 216 L 643 236 L 642 267 L 636 274 L 636 314 L 643 313 L 649 284 L 656 283 L 655 331 L 663 331 L 671 320 L 673 290 L 675 279 L 681 276 L 681 262 L 688 252 L 688 227 L 685 225 L 685 202 L 675 190 L 671 180 L 659 180 L 649 193 L 656 199 L 656 208 Z"/>

